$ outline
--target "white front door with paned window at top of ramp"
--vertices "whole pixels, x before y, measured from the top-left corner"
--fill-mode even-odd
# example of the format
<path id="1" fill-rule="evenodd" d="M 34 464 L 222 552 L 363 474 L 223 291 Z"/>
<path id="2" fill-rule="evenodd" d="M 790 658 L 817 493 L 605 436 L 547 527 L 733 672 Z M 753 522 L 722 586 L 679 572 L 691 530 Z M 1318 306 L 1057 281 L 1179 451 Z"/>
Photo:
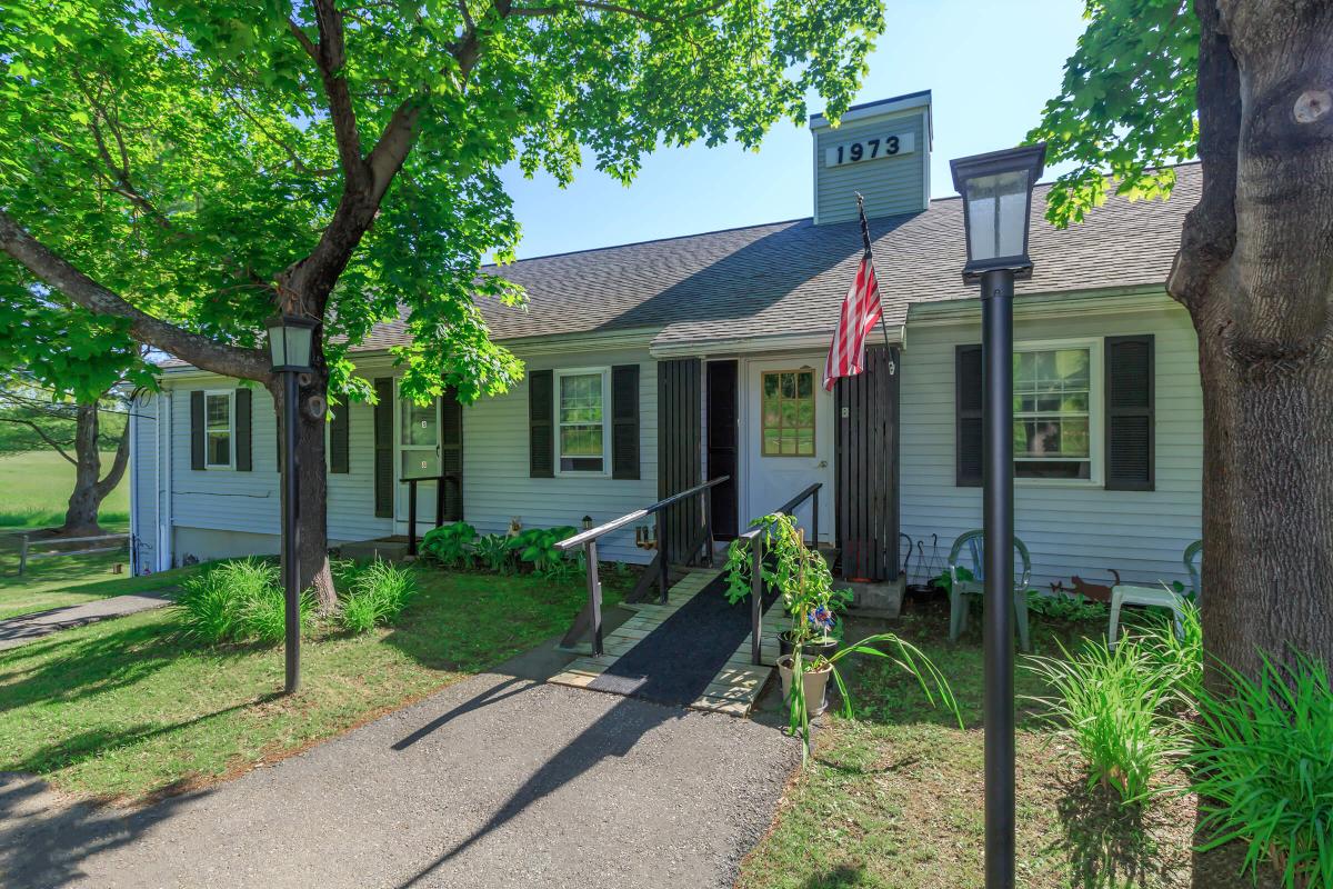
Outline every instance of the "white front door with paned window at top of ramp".
<path id="1" fill-rule="evenodd" d="M 742 524 L 777 509 L 810 484 L 820 488 L 820 540 L 833 540 L 833 396 L 820 385 L 822 356 L 746 363 Z M 810 529 L 810 502 L 796 510 Z"/>

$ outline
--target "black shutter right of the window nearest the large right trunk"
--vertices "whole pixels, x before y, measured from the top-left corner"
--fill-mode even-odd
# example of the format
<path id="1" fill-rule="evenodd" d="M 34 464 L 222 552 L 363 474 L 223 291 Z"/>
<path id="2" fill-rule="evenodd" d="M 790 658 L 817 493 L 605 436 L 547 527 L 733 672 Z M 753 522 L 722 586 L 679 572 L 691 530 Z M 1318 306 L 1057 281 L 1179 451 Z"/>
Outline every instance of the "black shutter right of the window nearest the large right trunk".
<path id="1" fill-rule="evenodd" d="M 1106 337 L 1106 489 L 1152 490 L 1153 336 Z"/>

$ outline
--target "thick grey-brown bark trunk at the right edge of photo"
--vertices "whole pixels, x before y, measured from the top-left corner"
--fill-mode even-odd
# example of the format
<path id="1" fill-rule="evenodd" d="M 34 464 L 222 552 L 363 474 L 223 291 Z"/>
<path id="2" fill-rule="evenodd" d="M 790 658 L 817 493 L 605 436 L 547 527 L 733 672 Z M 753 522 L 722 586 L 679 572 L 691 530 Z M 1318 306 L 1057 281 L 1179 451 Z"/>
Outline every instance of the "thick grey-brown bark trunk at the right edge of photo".
<path id="1" fill-rule="evenodd" d="M 1333 668 L 1333 4 L 1196 12 L 1204 195 L 1169 287 L 1200 345 L 1204 641 Z"/>

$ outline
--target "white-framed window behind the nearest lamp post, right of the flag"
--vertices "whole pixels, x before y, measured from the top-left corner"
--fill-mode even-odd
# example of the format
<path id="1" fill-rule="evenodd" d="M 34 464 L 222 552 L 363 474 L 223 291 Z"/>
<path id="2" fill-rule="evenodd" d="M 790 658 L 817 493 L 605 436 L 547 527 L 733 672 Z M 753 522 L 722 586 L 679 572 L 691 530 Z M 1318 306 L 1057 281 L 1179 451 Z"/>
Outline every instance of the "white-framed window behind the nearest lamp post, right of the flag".
<path id="1" fill-rule="evenodd" d="M 1092 345 L 1016 349 L 1013 468 L 1018 478 L 1090 481 L 1096 357 Z"/>

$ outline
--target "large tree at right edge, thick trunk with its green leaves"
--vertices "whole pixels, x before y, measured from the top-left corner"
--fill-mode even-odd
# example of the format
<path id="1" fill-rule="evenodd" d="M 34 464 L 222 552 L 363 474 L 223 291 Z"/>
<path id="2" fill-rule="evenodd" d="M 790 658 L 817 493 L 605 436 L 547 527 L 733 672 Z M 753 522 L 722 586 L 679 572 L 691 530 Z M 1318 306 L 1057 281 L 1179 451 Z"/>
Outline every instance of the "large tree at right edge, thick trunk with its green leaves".
<path id="1" fill-rule="evenodd" d="M 1333 3 L 1088 0 L 1033 139 L 1076 169 L 1049 216 L 1110 185 L 1169 195 L 1197 155 L 1168 289 L 1204 389 L 1204 638 L 1242 670 L 1333 666 Z"/>

